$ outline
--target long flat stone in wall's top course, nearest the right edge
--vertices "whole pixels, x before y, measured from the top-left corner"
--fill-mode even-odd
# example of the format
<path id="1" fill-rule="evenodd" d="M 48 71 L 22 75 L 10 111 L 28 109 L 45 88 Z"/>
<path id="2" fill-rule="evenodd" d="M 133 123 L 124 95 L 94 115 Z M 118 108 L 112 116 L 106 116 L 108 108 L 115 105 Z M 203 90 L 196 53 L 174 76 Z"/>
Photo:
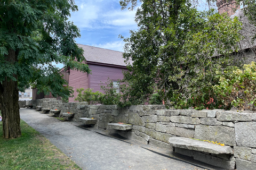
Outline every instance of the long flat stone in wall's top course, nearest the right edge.
<path id="1" fill-rule="evenodd" d="M 230 121 L 252 121 L 251 113 L 217 112 L 217 120 L 222 122 Z"/>

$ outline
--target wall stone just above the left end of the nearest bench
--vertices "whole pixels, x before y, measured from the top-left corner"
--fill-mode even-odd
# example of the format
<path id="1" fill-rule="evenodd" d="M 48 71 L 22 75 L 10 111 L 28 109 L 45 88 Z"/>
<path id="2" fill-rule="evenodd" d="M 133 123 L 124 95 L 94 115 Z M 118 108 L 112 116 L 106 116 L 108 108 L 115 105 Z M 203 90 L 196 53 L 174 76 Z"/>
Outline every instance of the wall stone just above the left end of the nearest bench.
<path id="1" fill-rule="evenodd" d="M 166 133 L 177 135 L 179 137 L 194 138 L 194 129 L 171 127 L 167 128 Z"/>

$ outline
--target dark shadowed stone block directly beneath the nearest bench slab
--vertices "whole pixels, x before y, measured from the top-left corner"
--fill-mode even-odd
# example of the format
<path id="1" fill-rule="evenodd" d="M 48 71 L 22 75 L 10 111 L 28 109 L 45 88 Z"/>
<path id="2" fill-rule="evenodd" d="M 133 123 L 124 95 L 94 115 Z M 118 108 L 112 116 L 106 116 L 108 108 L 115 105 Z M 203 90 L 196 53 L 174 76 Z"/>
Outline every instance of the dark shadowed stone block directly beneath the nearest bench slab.
<path id="1" fill-rule="evenodd" d="M 235 169 L 235 162 L 233 161 L 228 161 L 211 155 L 206 155 L 200 152 L 194 152 L 194 159 L 224 169 Z M 239 169 L 237 168 L 237 170 Z"/>

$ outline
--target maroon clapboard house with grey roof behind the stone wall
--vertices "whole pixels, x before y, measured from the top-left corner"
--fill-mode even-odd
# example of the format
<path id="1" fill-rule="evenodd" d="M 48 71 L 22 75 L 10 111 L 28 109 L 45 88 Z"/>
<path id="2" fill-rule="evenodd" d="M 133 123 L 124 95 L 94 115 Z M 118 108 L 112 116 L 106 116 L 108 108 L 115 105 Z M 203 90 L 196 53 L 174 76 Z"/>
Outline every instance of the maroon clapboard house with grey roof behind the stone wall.
<path id="1" fill-rule="evenodd" d="M 123 79 L 123 71 L 127 71 L 123 53 L 82 44 L 78 44 L 78 47 L 83 48 L 85 63 L 89 66 L 91 73 L 82 73 L 76 70 L 66 71 L 64 75 L 66 77 L 68 75 L 66 78 L 68 86 L 73 87 L 74 90 L 74 97 L 69 97 L 69 102 L 75 101 L 78 88 L 91 88 L 93 92 L 103 92 L 100 86 L 108 80 L 112 80 L 114 86 L 118 88 L 118 79 Z M 62 73 L 64 73 L 63 70 Z"/>

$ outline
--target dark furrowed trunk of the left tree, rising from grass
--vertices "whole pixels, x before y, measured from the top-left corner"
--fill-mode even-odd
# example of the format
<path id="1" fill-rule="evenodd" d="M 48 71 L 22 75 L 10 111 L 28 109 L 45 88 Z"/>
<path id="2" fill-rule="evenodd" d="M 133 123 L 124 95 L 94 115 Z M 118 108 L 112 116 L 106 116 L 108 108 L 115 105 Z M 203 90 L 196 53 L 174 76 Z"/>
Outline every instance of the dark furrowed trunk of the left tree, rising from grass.
<path id="1" fill-rule="evenodd" d="M 11 63 L 17 61 L 17 54 L 15 54 L 14 50 L 9 50 L 6 61 Z M 13 77 L 17 79 L 17 75 L 13 75 Z M 5 80 L 0 82 L 0 109 L 3 117 L 3 137 L 20 137 L 19 90 L 17 81 L 5 77 Z"/>

